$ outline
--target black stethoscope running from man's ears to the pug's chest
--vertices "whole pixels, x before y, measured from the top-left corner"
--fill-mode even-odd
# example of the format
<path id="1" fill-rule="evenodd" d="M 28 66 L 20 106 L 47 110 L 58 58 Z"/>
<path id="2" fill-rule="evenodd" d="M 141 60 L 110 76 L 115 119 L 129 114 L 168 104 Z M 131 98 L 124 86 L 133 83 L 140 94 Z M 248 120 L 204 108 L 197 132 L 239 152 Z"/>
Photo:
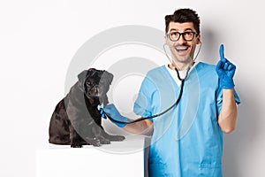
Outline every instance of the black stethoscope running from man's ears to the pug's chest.
<path id="1" fill-rule="evenodd" d="M 200 53 L 200 51 L 201 51 L 201 44 L 202 44 L 202 43 L 200 42 L 200 48 L 199 48 L 199 50 L 198 50 L 198 52 L 197 52 L 195 58 L 193 59 L 193 63 L 190 64 L 190 65 L 187 67 L 187 69 L 186 69 L 186 76 L 185 76 L 185 78 L 181 78 L 181 77 L 180 77 L 179 71 L 178 71 L 177 67 L 175 66 L 175 71 L 176 71 L 176 73 L 177 73 L 177 75 L 178 75 L 178 80 L 181 81 L 181 86 L 180 86 L 180 91 L 179 91 L 179 94 L 178 94 L 178 99 L 177 99 L 176 102 L 175 102 L 174 104 L 172 104 L 168 109 L 166 109 L 165 111 L 160 112 L 160 113 L 158 113 L 158 114 L 152 115 L 152 116 L 141 117 L 141 118 L 139 118 L 139 119 L 134 119 L 134 120 L 132 120 L 132 121 L 127 121 L 127 122 L 125 122 L 125 121 L 119 121 L 119 120 L 117 120 L 117 119 L 113 119 L 113 118 L 111 118 L 111 116 L 110 116 L 108 113 L 104 112 L 104 110 L 103 110 L 103 105 L 98 105 L 98 110 L 100 111 L 100 113 L 102 114 L 102 116 L 105 116 L 105 117 L 109 118 L 111 121 L 114 121 L 114 122 L 117 122 L 117 123 L 120 123 L 120 124 L 133 124 L 133 123 L 135 123 L 135 122 L 139 122 L 139 121 L 144 120 L 144 119 L 153 119 L 153 118 L 156 118 L 156 117 L 162 116 L 162 115 L 165 114 L 166 112 L 169 112 L 173 107 L 175 107 L 175 106 L 179 103 L 179 101 L 180 101 L 180 99 L 181 99 L 181 96 L 182 96 L 182 94 L 183 94 L 183 89 L 184 89 L 184 82 L 186 81 L 186 78 L 187 78 L 187 76 L 188 76 L 188 73 L 190 72 L 191 68 L 192 68 L 193 65 L 195 64 L 195 60 L 196 60 L 196 58 L 198 57 L 198 55 L 199 55 L 199 53 Z M 166 49 L 165 49 L 166 45 L 168 45 L 168 44 L 167 44 L 167 43 L 164 43 L 164 44 L 163 44 L 163 50 L 164 50 L 164 53 L 165 53 L 166 57 L 170 60 L 170 62 L 173 64 L 173 62 L 171 61 L 171 59 L 170 59 L 170 57 L 169 57 L 169 55 L 167 54 L 167 51 L 166 51 Z"/>

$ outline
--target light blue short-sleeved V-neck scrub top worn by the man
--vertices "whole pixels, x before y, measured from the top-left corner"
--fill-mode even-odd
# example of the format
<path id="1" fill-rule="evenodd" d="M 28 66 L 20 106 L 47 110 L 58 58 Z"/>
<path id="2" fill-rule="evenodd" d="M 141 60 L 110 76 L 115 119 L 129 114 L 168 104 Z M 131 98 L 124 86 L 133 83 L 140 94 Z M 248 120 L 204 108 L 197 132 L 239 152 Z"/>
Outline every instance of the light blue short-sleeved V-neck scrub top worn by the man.
<path id="1" fill-rule="evenodd" d="M 163 112 L 176 102 L 179 91 L 166 66 L 157 67 L 142 82 L 133 111 L 142 117 Z M 234 93 L 239 104 L 239 96 Z M 216 66 L 195 65 L 178 105 L 152 119 L 149 177 L 223 176 L 223 132 L 217 123 L 222 99 Z"/>

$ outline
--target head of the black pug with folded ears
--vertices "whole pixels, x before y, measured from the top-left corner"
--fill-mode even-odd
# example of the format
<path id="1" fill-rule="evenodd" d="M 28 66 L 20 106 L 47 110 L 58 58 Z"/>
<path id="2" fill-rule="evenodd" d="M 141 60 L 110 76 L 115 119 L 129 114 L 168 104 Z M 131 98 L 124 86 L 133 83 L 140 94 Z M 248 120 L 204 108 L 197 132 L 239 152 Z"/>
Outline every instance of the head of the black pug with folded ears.
<path id="1" fill-rule="evenodd" d="M 79 73 L 79 87 L 90 98 L 105 96 L 112 80 L 112 73 L 94 68 Z"/>

